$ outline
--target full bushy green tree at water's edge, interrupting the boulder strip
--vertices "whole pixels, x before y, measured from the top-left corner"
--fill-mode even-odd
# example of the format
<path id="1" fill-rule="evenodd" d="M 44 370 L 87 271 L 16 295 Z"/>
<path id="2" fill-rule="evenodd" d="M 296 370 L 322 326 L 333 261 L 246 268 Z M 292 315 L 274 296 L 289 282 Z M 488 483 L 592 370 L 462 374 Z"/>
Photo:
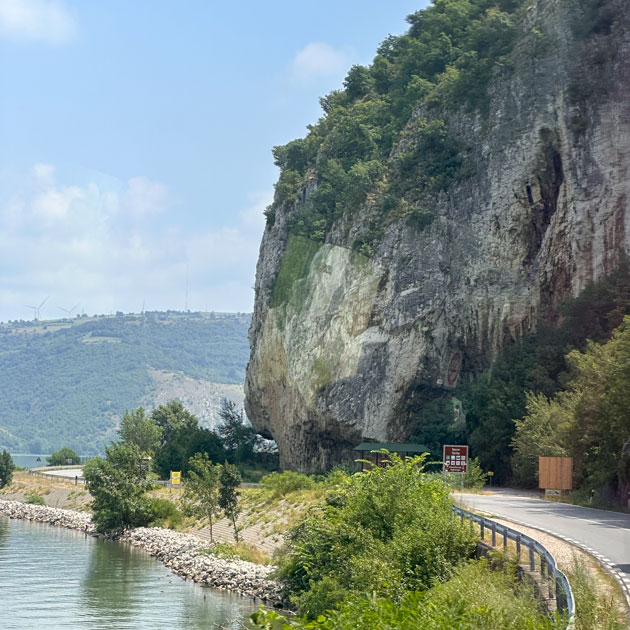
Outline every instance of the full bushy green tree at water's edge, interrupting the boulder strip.
<path id="1" fill-rule="evenodd" d="M 99 532 L 147 525 L 151 503 L 148 462 L 135 444 L 105 448 L 105 458 L 91 459 L 83 468 L 87 489 L 94 498 L 92 511 Z"/>

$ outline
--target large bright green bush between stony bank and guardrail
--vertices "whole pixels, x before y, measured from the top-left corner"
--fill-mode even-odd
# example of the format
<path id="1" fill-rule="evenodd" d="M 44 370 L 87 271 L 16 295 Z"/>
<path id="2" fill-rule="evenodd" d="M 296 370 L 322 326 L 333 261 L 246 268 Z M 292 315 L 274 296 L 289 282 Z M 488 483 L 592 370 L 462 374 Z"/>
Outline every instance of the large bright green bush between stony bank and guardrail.
<path id="1" fill-rule="evenodd" d="M 450 577 L 476 538 L 452 517 L 448 487 L 425 457 L 353 475 L 288 537 L 278 577 L 298 610 L 315 618 L 348 594 L 399 599 Z"/>

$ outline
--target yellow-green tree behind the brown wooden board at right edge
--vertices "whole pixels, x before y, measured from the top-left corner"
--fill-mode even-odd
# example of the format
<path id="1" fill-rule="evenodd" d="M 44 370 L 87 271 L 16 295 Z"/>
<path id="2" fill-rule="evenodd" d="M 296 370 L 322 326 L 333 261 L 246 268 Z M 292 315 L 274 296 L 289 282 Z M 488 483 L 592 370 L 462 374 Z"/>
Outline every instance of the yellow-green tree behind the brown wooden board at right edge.
<path id="1" fill-rule="evenodd" d="M 571 351 L 567 362 L 572 377 L 566 391 L 551 400 L 528 398 L 528 413 L 517 422 L 515 465 L 531 478 L 532 451 L 566 453 L 573 457 L 578 487 L 607 488 L 625 500 L 630 490 L 630 316 L 609 341 L 590 341 L 584 352 Z"/>

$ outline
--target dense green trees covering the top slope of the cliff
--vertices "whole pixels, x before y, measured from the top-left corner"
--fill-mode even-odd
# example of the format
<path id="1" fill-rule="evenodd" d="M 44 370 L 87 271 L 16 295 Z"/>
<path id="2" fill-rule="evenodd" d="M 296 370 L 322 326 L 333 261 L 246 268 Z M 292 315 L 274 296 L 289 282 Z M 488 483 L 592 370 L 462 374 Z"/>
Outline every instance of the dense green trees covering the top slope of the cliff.
<path id="1" fill-rule="evenodd" d="M 389 36 L 370 66 L 352 66 L 344 89 L 321 99 L 324 116 L 306 138 L 274 148 L 281 173 L 266 212 L 270 223 L 311 181 L 316 188 L 288 226 L 321 242 L 368 197 L 376 223 L 383 223 L 421 208 L 423 193 L 465 177 L 465 148 L 440 112 L 461 106 L 487 112 L 490 78 L 510 54 L 527 4 L 437 0 L 410 15 L 405 35 Z M 373 232 L 370 240 L 378 240 L 379 230 Z"/>

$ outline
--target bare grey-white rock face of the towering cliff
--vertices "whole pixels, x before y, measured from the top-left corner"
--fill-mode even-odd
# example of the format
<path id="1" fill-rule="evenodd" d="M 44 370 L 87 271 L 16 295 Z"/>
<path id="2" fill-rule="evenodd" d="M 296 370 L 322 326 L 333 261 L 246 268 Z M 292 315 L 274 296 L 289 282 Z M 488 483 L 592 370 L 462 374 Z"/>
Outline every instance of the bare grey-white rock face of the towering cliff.
<path id="1" fill-rule="evenodd" d="M 361 215 L 322 245 L 290 234 L 316 182 L 276 210 L 246 409 L 283 466 L 317 470 L 361 440 L 405 439 L 411 405 L 487 367 L 630 250 L 630 12 L 608 4 L 614 19 L 585 37 L 570 3 L 540 0 L 495 69 L 487 116 L 442 112 L 472 175 L 432 196 L 424 229 L 393 221 L 367 257 L 352 249 Z M 274 299 L 298 249 L 303 268 Z"/>

